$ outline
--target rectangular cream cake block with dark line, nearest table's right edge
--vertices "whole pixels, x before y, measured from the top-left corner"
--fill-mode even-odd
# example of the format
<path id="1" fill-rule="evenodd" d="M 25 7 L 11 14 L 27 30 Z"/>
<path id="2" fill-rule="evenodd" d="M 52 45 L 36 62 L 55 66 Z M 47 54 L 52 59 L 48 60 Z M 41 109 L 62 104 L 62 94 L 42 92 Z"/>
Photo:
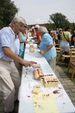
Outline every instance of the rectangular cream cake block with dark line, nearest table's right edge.
<path id="1" fill-rule="evenodd" d="M 42 77 L 42 82 L 44 87 L 58 87 L 59 85 L 59 81 L 53 75 L 45 75 L 44 77 Z"/>

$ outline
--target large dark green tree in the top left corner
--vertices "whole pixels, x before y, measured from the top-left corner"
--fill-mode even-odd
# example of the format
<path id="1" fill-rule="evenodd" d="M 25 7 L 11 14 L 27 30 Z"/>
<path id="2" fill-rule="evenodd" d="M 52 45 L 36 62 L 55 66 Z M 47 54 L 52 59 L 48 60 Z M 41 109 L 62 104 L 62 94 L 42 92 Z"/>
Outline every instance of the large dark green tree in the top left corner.
<path id="1" fill-rule="evenodd" d="M 17 12 L 18 9 L 14 2 L 11 0 L 0 0 L 0 28 L 8 26 Z"/>

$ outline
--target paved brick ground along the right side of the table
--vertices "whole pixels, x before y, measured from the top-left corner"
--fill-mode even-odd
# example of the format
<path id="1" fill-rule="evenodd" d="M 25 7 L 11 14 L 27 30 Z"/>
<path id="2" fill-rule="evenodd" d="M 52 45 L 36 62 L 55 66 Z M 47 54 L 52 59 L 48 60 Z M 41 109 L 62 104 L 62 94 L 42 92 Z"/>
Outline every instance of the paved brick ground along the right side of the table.
<path id="1" fill-rule="evenodd" d="M 56 66 L 56 75 L 75 106 L 75 84 L 68 78 L 68 76 L 58 65 Z"/>

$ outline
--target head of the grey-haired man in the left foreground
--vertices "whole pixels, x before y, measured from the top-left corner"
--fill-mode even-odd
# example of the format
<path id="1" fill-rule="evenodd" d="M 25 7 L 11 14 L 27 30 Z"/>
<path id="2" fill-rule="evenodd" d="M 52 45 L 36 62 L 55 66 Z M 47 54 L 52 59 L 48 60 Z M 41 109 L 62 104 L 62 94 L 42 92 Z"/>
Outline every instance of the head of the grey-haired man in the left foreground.
<path id="1" fill-rule="evenodd" d="M 11 28 L 14 33 L 22 32 L 26 28 L 27 24 L 24 18 L 22 17 L 14 17 L 10 23 Z"/>

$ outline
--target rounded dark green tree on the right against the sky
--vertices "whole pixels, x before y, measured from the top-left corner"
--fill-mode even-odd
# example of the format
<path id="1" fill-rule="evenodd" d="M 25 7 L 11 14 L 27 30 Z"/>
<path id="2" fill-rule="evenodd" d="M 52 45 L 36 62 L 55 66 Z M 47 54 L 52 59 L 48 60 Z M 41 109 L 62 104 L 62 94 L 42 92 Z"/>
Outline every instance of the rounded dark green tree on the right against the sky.
<path id="1" fill-rule="evenodd" d="M 55 28 L 65 28 L 65 26 L 70 25 L 70 22 L 68 21 L 66 16 L 61 13 L 55 13 L 50 15 L 49 23 L 54 24 Z"/>

